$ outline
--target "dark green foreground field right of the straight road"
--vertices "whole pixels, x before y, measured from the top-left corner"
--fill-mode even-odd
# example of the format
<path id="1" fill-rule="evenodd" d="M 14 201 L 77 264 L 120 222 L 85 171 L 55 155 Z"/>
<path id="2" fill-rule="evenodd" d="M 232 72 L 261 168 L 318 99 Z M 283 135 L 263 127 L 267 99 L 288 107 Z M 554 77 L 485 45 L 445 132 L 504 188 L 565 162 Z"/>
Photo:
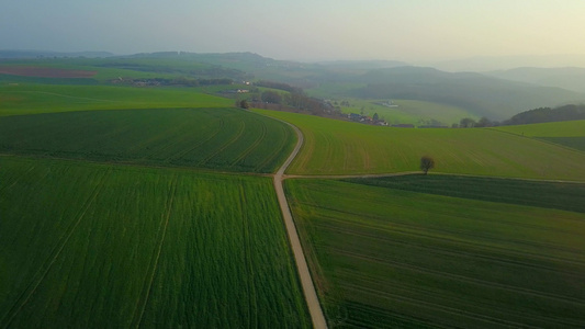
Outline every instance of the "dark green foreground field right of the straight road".
<path id="1" fill-rule="evenodd" d="M 558 208 L 583 184 L 553 208 L 522 181 L 442 178 L 446 190 L 480 185 L 460 198 L 421 188 L 427 178 L 285 181 L 329 327 L 583 327 L 585 213 Z M 506 203 L 482 201 L 495 190 Z M 514 200 L 529 190 L 521 198 L 540 206 Z"/>

